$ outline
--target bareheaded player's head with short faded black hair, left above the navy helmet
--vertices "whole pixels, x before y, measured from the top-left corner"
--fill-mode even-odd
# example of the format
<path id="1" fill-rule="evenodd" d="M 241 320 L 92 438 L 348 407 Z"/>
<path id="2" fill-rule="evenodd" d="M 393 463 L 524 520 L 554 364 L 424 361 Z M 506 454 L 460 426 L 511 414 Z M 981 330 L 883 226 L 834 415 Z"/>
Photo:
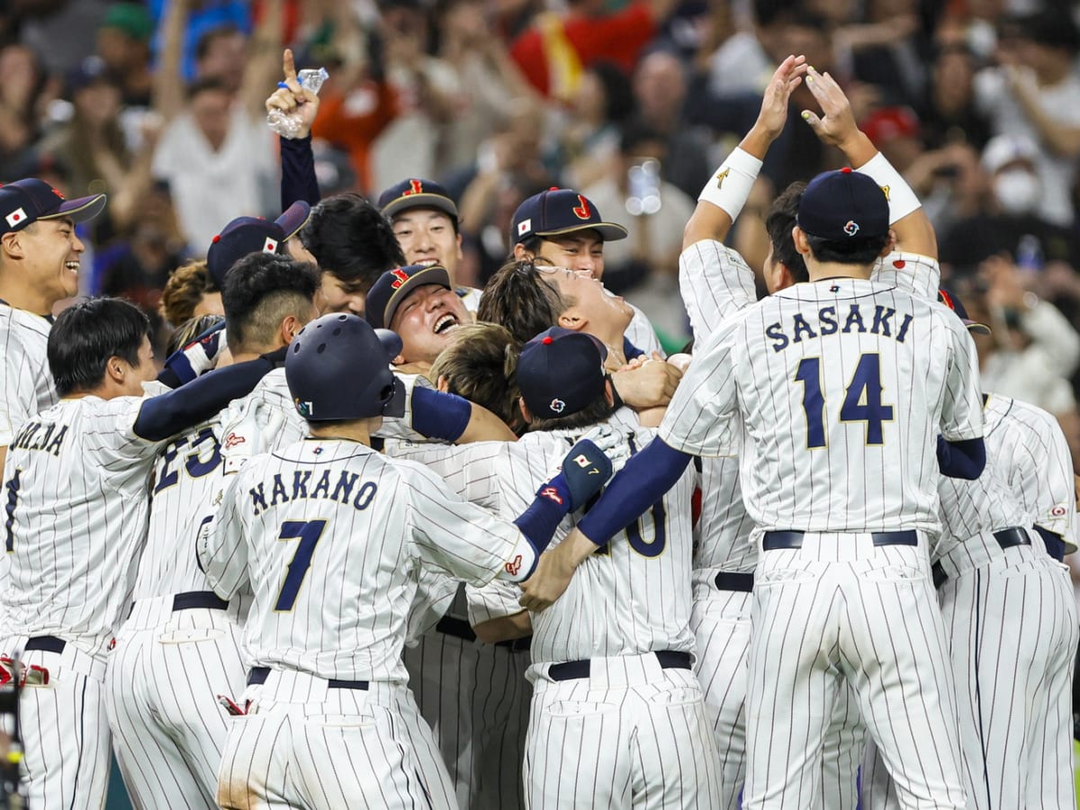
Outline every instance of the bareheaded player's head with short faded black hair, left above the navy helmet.
<path id="1" fill-rule="evenodd" d="M 239 259 L 221 289 L 229 349 L 237 353 L 273 342 L 286 315 L 307 322 L 319 282 L 319 268 L 309 261 L 269 253 Z"/>

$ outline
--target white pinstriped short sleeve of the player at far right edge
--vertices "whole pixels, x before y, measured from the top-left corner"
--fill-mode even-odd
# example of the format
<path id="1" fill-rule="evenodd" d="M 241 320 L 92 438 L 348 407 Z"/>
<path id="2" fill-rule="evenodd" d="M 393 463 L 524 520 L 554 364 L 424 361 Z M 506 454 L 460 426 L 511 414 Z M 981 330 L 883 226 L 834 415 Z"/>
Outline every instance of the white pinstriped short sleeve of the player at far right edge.
<path id="1" fill-rule="evenodd" d="M 986 453 L 1008 460 L 1007 484 L 1032 523 L 1076 542 L 1076 489 L 1068 441 L 1042 408 L 990 394 L 983 409 Z"/>

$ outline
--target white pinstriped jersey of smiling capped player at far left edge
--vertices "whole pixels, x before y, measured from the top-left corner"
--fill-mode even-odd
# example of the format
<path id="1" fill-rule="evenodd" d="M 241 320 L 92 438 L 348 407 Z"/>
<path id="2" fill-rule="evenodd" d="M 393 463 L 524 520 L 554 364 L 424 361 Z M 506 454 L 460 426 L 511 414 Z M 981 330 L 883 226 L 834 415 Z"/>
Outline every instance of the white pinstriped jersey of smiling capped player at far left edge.
<path id="1" fill-rule="evenodd" d="M 59 401 L 45 354 L 50 329 L 41 315 L 0 303 L 0 446 Z"/>

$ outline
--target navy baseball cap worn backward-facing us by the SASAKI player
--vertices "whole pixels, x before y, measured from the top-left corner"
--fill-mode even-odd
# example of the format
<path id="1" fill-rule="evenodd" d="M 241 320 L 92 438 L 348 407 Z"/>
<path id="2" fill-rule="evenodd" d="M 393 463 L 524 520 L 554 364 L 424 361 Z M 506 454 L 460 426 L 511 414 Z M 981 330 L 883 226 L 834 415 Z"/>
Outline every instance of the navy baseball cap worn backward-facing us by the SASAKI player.
<path id="1" fill-rule="evenodd" d="M 796 219 L 811 237 L 842 242 L 869 239 L 889 232 L 889 200 L 866 174 L 841 168 L 810 180 Z"/>

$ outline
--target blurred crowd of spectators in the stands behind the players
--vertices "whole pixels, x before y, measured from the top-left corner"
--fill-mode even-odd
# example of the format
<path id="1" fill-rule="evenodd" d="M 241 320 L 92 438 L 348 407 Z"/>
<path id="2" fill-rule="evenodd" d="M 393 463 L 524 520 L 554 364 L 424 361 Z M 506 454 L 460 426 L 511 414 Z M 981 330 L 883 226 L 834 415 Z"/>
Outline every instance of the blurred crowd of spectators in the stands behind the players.
<path id="1" fill-rule="evenodd" d="M 106 191 L 83 292 L 157 313 L 170 273 L 238 213 L 280 212 L 264 102 L 282 49 L 325 67 L 324 194 L 405 175 L 457 198 L 459 281 L 483 286 L 510 218 L 582 191 L 630 239 L 605 284 L 669 349 L 689 327 L 683 226 L 756 116 L 778 57 L 805 53 L 924 201 L 946 278 L 995 325 L 984 388 L 1062 421 L 1080 461 L 1080 8 L 1038 0 L 11 0 L 0 11 L 0 178 Z M 812 106 L 804 89 L 797 109 Z M 734 246 L 788 183 L 841 163 L 798 114 Z"/>

